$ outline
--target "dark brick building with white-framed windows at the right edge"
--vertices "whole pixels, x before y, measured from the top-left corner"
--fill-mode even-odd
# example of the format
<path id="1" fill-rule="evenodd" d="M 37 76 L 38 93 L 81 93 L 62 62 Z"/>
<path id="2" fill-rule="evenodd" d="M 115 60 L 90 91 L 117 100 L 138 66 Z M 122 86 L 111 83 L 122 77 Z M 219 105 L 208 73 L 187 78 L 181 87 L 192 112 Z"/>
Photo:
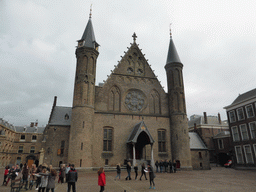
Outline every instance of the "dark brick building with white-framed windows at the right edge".
<path id="1" fill-rule="evenodd" d="M 240 94 L 227 111 L 235 167 L 256 167 L 256 89 Z"/>

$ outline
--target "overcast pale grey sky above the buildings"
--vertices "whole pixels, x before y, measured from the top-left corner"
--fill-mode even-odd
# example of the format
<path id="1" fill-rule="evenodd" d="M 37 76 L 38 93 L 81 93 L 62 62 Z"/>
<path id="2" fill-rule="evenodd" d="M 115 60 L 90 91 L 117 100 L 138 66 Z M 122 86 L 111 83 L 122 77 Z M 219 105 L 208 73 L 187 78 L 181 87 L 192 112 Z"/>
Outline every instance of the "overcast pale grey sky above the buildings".
<path id="1" fill-rule="evenodd" d="M 14 125 L 48 122 L 53 98 L 72 106 L 75 48 L 92 23 L 103 82 L 127 47 L 137 43 L 167 88 L 169 24 L 184 65 L 188 116 L 221 114 L 255 88 L 255 0 L 1 0 L 0 118 Z"/>

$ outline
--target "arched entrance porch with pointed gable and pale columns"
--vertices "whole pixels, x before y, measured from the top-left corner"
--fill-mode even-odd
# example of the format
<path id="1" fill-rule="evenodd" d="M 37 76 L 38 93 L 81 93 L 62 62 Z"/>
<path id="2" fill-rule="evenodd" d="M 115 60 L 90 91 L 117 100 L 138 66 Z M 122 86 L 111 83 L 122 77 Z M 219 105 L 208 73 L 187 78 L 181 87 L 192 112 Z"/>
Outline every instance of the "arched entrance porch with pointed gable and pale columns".
<path id="1" fill-rule="evenodd" d="M 153 165 L 153 143 L 154 140 L 144 121 L 136 124 L 127 140 L 127 159 L 132 160 L 133 165 L 136 164 L 136 160 L 149 160 Z M 150 159 L 147 159 L 147 156 Z"/>

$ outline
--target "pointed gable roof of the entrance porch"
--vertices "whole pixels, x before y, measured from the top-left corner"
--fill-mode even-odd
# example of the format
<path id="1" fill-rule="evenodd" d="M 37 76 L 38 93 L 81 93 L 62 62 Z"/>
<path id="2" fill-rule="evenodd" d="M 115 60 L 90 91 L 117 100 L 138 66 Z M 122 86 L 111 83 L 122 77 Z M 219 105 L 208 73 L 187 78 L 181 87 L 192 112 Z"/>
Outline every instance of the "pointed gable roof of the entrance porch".
<path id="1" fill-rule="evenodd" d="M 127 143 L 137 143 L 137 138 L 140 135 L 140 133 L 143 131 L 146 132 L 146 134 L 148 135 L 148 137 L 150 139 L 150 143 L 154 143 L 155 141 L 154 141 L 153 137 L 150 135 L 148 128 L 146 127 L 144 121 L 139 122 L 138 124 L 136 124 L 133 127 L 133 130 L 128 137 Z"/>

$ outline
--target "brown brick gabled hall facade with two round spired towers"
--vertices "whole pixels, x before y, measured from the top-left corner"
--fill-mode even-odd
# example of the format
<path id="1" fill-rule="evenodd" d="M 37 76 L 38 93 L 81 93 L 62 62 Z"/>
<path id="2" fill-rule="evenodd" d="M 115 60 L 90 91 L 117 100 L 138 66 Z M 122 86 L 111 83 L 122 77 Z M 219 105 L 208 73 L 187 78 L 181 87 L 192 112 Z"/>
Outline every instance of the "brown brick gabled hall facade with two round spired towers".
<path id="1" fill-rule="evenodd" d="M 192 169 L 183 64 L 172 36 L 165 65 L 168 93 L 141 53 L 135 34 L 108 79 L 96 86 L 98 48 L 90 16 L 76 48 L 68 162 L 101 167 L 168 159 Z"/>

